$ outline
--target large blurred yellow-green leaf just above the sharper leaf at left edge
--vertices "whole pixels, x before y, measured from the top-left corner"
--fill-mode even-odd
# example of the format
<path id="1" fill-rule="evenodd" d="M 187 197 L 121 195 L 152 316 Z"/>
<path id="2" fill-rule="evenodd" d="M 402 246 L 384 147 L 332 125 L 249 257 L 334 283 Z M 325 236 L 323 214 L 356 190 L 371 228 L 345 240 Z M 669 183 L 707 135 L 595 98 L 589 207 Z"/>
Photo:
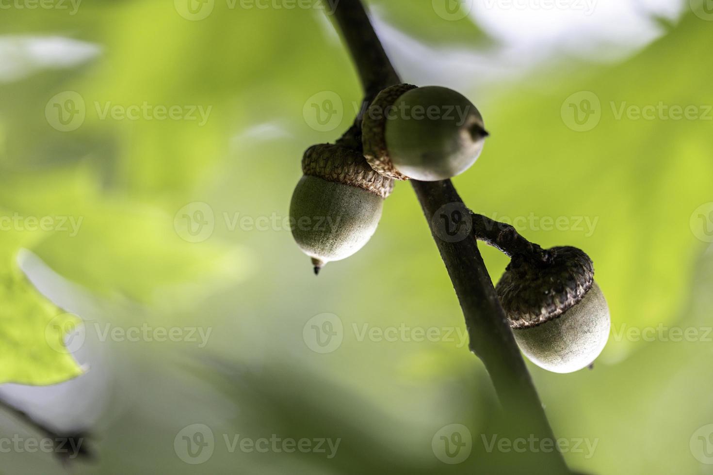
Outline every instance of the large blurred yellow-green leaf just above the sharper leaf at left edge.
<path id="1" fill-rule="evenodd" d="M 175 216 L 103 194 L 88 167 L 6 175 L 0 181 L 0 199 L 21 216 L 64 223 L 33 251 L 62 276 L 98 293 L 180 308 L 250 273 L 250 259 L 240 248 L 210 235 L 186 241 Z M 35 192 L 22 192 L 29 188 Z"/>

